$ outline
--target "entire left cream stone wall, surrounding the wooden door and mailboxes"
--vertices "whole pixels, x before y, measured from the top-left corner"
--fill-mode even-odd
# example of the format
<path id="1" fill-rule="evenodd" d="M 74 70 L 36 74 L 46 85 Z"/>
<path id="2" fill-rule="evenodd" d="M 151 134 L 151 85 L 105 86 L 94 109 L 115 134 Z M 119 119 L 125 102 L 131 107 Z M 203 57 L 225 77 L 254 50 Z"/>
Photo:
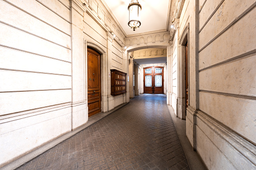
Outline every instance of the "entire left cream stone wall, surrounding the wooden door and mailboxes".
<path id="1" fill-rule="evenodd" d="M 129 101 L 108 76 L 128 73 L 124 34 L 100 1 L 85 3 L 0 1 L 0 167 L 87 122 L 87 46 L 102 54 L 102 111 Z"/>

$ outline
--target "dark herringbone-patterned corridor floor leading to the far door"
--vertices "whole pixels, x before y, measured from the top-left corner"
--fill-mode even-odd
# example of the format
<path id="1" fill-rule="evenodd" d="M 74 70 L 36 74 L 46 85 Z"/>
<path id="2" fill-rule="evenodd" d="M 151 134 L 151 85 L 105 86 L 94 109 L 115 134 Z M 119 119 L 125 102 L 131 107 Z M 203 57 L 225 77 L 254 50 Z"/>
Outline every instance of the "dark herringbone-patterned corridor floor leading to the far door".
<path id="1" fill-rule="evenodd" d="M 189 169 L 166 95 L 143 94 L 19 168 Z"/>

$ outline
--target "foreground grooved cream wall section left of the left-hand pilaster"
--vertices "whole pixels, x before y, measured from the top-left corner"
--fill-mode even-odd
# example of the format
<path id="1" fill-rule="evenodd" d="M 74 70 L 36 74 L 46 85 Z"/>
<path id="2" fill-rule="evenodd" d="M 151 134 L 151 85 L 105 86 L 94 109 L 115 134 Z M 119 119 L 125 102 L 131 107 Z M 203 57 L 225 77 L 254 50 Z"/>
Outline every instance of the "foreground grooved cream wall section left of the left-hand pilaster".
<path id="1" fill-rule="evenodd" d="M 63 4 L 0 2 L 0 166 L 71 130 L 69 1 Z"/>

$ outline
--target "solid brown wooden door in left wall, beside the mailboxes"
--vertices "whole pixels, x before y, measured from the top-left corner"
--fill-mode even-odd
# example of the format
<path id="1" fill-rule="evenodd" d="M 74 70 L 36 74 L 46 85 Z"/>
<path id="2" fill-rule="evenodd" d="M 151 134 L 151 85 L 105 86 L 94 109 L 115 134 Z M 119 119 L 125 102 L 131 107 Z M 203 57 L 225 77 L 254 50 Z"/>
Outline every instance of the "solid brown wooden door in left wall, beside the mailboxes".
<path id="1" fill-rule="evenodd" d="M 89 117 L 101 111 L 100 54 L 87 48 L 88 113 Z"/>

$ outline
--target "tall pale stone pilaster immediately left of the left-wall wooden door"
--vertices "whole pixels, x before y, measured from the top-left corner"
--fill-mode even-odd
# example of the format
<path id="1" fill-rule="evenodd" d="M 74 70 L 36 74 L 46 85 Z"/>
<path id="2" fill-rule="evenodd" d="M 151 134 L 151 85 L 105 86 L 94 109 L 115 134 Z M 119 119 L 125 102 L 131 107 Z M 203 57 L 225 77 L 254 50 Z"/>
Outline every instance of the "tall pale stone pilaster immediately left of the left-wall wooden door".
<path id="1" fill-rule="evenodd" d="M 86 11 L 81 3 L 70 1 L 71 18 L 71 53 L 72 53 L 72 113 L 71 128 L 85 124 L 88 120 L 86 97 L 86 54 L 83 42 L 83 13 Z"/>

